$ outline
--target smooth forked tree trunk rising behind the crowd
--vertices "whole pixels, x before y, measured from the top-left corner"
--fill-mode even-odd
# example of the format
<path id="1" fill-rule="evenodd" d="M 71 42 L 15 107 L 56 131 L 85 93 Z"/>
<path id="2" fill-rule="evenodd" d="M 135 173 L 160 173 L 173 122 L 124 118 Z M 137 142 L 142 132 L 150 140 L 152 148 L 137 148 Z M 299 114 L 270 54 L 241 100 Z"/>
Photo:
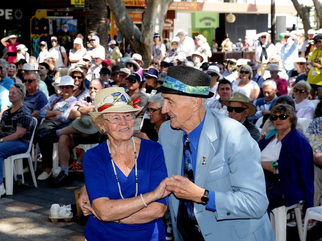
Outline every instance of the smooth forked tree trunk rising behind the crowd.
<path id="1" fill-rule="evenodd" d="M 146 65 L 151 61 L 153 35 L 162 33 L 164 17 L 172 2 L 173 0 L 147 0 L 141 32 L 127 14 L 122 0 L 107 0 L 119 31 L 134 51 L 142 55 Z"/>

